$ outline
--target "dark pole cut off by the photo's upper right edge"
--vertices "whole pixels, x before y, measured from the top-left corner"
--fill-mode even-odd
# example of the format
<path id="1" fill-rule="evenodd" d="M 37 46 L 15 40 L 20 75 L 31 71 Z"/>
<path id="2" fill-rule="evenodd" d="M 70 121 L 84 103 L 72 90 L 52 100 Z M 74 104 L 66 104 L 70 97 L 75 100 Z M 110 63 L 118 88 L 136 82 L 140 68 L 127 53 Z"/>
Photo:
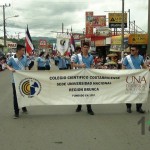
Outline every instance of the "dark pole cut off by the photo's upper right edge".
<path id="1" fill-rule="evenodd" d="M 150 56 L 150 0 L 148 0 L 148 45 L 147 54 Z"/>

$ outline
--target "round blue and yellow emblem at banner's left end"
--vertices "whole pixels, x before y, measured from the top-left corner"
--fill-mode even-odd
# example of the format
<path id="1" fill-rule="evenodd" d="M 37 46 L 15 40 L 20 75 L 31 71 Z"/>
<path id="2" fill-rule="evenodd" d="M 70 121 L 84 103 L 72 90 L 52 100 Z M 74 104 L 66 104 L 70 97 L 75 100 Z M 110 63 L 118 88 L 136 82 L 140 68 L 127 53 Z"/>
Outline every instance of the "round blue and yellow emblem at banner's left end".
<path id="1" fill-rule="evenodd" d="M 22 96 L 32 98 L 41 92 L 41 83 L 36 79 L 26 78 L 20 82 L 19 89 Z"/>

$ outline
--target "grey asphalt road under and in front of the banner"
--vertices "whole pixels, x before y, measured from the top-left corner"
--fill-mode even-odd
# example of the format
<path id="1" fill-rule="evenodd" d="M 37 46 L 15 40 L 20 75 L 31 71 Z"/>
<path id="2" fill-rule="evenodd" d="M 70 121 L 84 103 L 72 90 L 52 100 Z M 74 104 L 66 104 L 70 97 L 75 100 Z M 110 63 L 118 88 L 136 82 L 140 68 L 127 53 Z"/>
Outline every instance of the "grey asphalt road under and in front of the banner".
<path id="1" fill-rule="evenodd" d="M 124 104 L 92 107 L 94 116 L 85 106 L 80 113 L 76 106 L 34 106 L 13 119 L 10 73 L 0 72 L 0 150 L 150 149 L 149 101 L 143 105 L 144 115 L 135 111 L 135 105 L 132 114 Z M 145 121 L 138 125 L 142 117 Z"/>

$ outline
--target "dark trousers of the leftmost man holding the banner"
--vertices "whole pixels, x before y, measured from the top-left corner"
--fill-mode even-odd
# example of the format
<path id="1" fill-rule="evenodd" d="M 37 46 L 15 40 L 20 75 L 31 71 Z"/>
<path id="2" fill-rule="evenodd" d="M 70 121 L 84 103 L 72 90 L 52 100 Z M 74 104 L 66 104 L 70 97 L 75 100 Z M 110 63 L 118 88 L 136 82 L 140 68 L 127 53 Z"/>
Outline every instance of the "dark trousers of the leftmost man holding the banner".
<path id="1" fill-rule="evenodd" d="M 19 114 L 19 108 L 18 108 L 18 101 L 17 101 L 17 94 L 16 94 L 15 83 L 12 83 L 12 88 L 13 88 L 14 111 L 15 111 L 15 114 Z M 26 109 L 26 107 L 22 107 L 22 109 Z"/>

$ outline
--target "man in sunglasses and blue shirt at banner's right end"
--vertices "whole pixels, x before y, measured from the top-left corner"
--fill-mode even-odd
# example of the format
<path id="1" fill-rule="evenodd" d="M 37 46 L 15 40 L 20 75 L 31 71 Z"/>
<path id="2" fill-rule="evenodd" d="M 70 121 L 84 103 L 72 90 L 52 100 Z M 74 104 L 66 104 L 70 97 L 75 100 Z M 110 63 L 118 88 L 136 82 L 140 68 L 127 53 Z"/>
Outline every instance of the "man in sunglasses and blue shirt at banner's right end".
<path id="1" fill-rule="evenodd" d="M 123 60 L 123 69 L 147 69 L 147 66 L 144 63 L 143 56 L 139 55 L 139 48 L 138 46 L 131 46 L 130 47 L 131 54 L 127 55 Z M 131 110 L 131 104 L 127 103 L 127 112 L 132 113 Z M 138 103 L 136 104 L 136 111 L 139 113 L 145 113 L 144 110 L 142 110 L 142 104 Z"/>

